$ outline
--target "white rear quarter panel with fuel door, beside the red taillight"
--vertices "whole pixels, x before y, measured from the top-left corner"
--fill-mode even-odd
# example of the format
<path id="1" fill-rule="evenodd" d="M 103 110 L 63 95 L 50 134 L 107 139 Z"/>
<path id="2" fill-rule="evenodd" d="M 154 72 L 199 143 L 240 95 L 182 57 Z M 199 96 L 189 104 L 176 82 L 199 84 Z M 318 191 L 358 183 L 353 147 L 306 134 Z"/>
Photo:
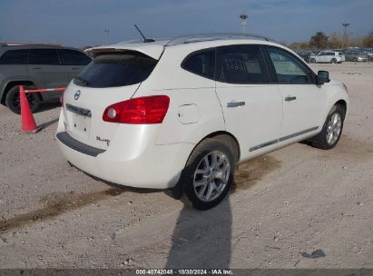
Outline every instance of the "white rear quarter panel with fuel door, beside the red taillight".
<path id="1" fill-rule="evenodd" d="M 195 45 L 166 48 L 150 77 L 134 95 L 170 97 L 169 110 L 156 137 L 157 144 L 199 143 L 211 133 L 224 131 L 215 81 L 182 69 L 182 60 L 197 50 Z"/>

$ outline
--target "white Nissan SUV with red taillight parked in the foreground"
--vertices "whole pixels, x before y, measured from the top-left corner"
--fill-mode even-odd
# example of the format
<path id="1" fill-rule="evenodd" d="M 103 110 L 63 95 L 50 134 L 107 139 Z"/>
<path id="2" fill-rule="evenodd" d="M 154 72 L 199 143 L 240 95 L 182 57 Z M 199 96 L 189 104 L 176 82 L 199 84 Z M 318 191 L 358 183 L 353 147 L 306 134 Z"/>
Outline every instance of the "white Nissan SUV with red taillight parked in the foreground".
<path id="1" fill-rule="evenodd" d="M 209 209 L 236 164 L 290 143 L 331 149 L 348 110 L 344 84 L 260 36 L 204 34 L 90 49 L 63 95 L 66 159 L 107 182 L 185 192 Z"/>

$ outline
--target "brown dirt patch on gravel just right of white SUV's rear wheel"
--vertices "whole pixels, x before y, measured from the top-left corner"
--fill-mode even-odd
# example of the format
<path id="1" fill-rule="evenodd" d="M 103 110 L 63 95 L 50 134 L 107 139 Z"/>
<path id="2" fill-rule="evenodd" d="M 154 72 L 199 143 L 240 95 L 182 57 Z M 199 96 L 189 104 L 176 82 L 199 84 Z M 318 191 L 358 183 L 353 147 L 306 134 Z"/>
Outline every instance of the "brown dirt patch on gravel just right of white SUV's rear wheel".
<path id="1" fill-rule="evenodd" d="M 259 182 L 266 174 L 280 168 L 281 162 L 270 155 L 264 155 L 244 163 L 234 176 L 232 191 L 247 190 Z"/>

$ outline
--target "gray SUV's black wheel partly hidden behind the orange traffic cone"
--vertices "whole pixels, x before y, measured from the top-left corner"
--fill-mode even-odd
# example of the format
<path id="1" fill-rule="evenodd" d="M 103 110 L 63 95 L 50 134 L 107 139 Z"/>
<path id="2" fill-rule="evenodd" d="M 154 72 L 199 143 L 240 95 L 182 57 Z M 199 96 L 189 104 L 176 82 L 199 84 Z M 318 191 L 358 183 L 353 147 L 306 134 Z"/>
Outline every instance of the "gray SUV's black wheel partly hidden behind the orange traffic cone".
<path id="1" fill-rule="evenodd" d="M 25 89 L 34 89 L 34 86 L 25 86 Z M 31 110 L 36 112 L 41 104 L 41 99 L 39 94 L 26 94 L 28 103 L 30 104 Z M 21 113 L 21 106 L 19 100 L 19 86 L 14 86 L 10 88 L 5 97 L 6 106 L 14 113 Z"/>

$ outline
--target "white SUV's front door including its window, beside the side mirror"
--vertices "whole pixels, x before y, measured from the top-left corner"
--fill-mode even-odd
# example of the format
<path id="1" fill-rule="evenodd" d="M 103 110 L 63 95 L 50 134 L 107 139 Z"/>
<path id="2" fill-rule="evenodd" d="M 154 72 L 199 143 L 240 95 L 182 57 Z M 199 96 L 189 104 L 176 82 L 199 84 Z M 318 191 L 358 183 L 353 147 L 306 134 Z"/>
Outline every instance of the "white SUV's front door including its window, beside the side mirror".
<path id="1" fill-rule="evenodd" d="M 282 99 L 280 142 L 317 132 L 322 127 L 319 114 L 322 113 L 325 94 L 321 85 L 316 84 L 315 74 L 289 51 L 274 46 L 266 48 Z"/>

